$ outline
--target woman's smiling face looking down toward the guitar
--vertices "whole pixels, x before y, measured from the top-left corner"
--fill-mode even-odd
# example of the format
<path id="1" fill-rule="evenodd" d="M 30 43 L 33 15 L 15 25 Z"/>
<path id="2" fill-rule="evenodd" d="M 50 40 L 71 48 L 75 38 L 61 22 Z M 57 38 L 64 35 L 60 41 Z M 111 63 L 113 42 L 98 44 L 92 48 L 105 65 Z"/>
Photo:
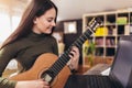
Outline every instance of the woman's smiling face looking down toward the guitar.
<path id="1" fill-rule="evenodd" d="M 56 25 L 55 18 L 56 11 L 54 8 L 47 10 L 43 15 L 36 16 L 33 21 L 34 22 L 33 32 L 37 34 L 52 33 L 53 26 Z"/>

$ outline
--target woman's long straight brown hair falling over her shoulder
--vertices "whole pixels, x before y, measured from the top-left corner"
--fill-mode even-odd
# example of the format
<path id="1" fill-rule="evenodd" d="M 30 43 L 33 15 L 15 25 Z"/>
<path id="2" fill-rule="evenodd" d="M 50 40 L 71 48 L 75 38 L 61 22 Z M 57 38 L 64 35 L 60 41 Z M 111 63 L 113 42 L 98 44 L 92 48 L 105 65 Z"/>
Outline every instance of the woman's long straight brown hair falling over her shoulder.
<path id="1" fill-rule="evenodd" d="M 22 19 L 20 21 L 16 30 L 3 42 L 2 47 L 8 44 L 13 43 L 31 33 L 34 25 L 33 20 L 35 16 L 43 15 L 47 10 L 54 8 L 56 10 L 57 18 L 57 7 L 51 0 L 32 0 L 26 10 L 24 11 Z M 56 22 L 55 18 L 55 22 Z M 53 28 L 54 29 L 54 28 Z"/>

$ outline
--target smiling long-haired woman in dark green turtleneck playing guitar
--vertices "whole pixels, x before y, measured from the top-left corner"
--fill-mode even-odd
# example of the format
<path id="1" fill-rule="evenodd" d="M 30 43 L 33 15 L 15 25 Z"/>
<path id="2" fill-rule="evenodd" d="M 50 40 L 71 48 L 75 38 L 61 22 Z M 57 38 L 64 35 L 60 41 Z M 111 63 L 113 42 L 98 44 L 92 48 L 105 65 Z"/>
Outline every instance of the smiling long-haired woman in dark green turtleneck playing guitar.
<path id="1" fill-rule="evenodd" d="M 32 67 L 37 56 L 44 53 L 58 55 L 56 40 L 51 35 L 57 18 L 57 8 L 51 0 L 32 0 L 18 29 L 4 41 L 0 50 L 0 76 L 8 63 L 15 58 L 25 72 Z M 78 66 L 79 51 L 73 47 L 70 68 Z M 0 78 L 0 88 L 50 88 L 48 82 L 37 79 L 13 81 Z"/>

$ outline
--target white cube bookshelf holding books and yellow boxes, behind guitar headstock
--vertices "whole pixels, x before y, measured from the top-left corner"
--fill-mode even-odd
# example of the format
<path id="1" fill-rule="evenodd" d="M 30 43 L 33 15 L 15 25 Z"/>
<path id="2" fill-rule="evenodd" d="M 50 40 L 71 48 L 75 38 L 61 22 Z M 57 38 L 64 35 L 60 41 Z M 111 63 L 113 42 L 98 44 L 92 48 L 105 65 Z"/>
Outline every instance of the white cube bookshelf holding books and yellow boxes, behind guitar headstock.
<path id="1" fill-rule="evenodd" d="M 98 13 L 87 13 L 82 15 L 82 32 L 87 29 L 87 23 L 92 18 L 100 18 L 103 21 L 103 25 L 97 29 L 96 33 L 91 35 L 89 43 L 95 43 L 95 59 L 113 59 L 117 45 L 120 36 L 132 34 L 132 11 L 120 10 Z M 85 44 L 82 50 L 85 48 Z M 89 66 L 87 63 L 88 58 L 82 51 L 82 65 L 84 67 Z"/>

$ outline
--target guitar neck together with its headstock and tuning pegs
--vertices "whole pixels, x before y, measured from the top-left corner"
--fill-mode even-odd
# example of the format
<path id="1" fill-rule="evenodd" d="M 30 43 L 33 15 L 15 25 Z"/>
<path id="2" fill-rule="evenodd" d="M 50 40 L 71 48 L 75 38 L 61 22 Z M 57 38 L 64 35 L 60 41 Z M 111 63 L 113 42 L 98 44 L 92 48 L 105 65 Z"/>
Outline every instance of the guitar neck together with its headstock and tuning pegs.
<path id="1" fill-rule="evenodd" d="M 62 69 L 63 67 L 67 64 L 67 62 L 70 59 L 69 57 L 69 53 L 72 51 L 73 46 L 77 46 L 78 48 L 81 47 L 81 45 L 84 44 L 84 42 L 88 38 L 90 38 L 90 35 L 96 32 L 97 28 L 99 28 L 102 24 L 102 22 L 100 21 L 100 19 L 92 19 L 88 26 L 86 32 L 84 32 L 82 35 L 79 36 L 79 38 L 77 38 L 67 51 L 64 52 L 64 54 L 62 54 L 58 59 L 50 67 L 50 72 L 52 72 L 52 75 L 55 77 Z"/>

